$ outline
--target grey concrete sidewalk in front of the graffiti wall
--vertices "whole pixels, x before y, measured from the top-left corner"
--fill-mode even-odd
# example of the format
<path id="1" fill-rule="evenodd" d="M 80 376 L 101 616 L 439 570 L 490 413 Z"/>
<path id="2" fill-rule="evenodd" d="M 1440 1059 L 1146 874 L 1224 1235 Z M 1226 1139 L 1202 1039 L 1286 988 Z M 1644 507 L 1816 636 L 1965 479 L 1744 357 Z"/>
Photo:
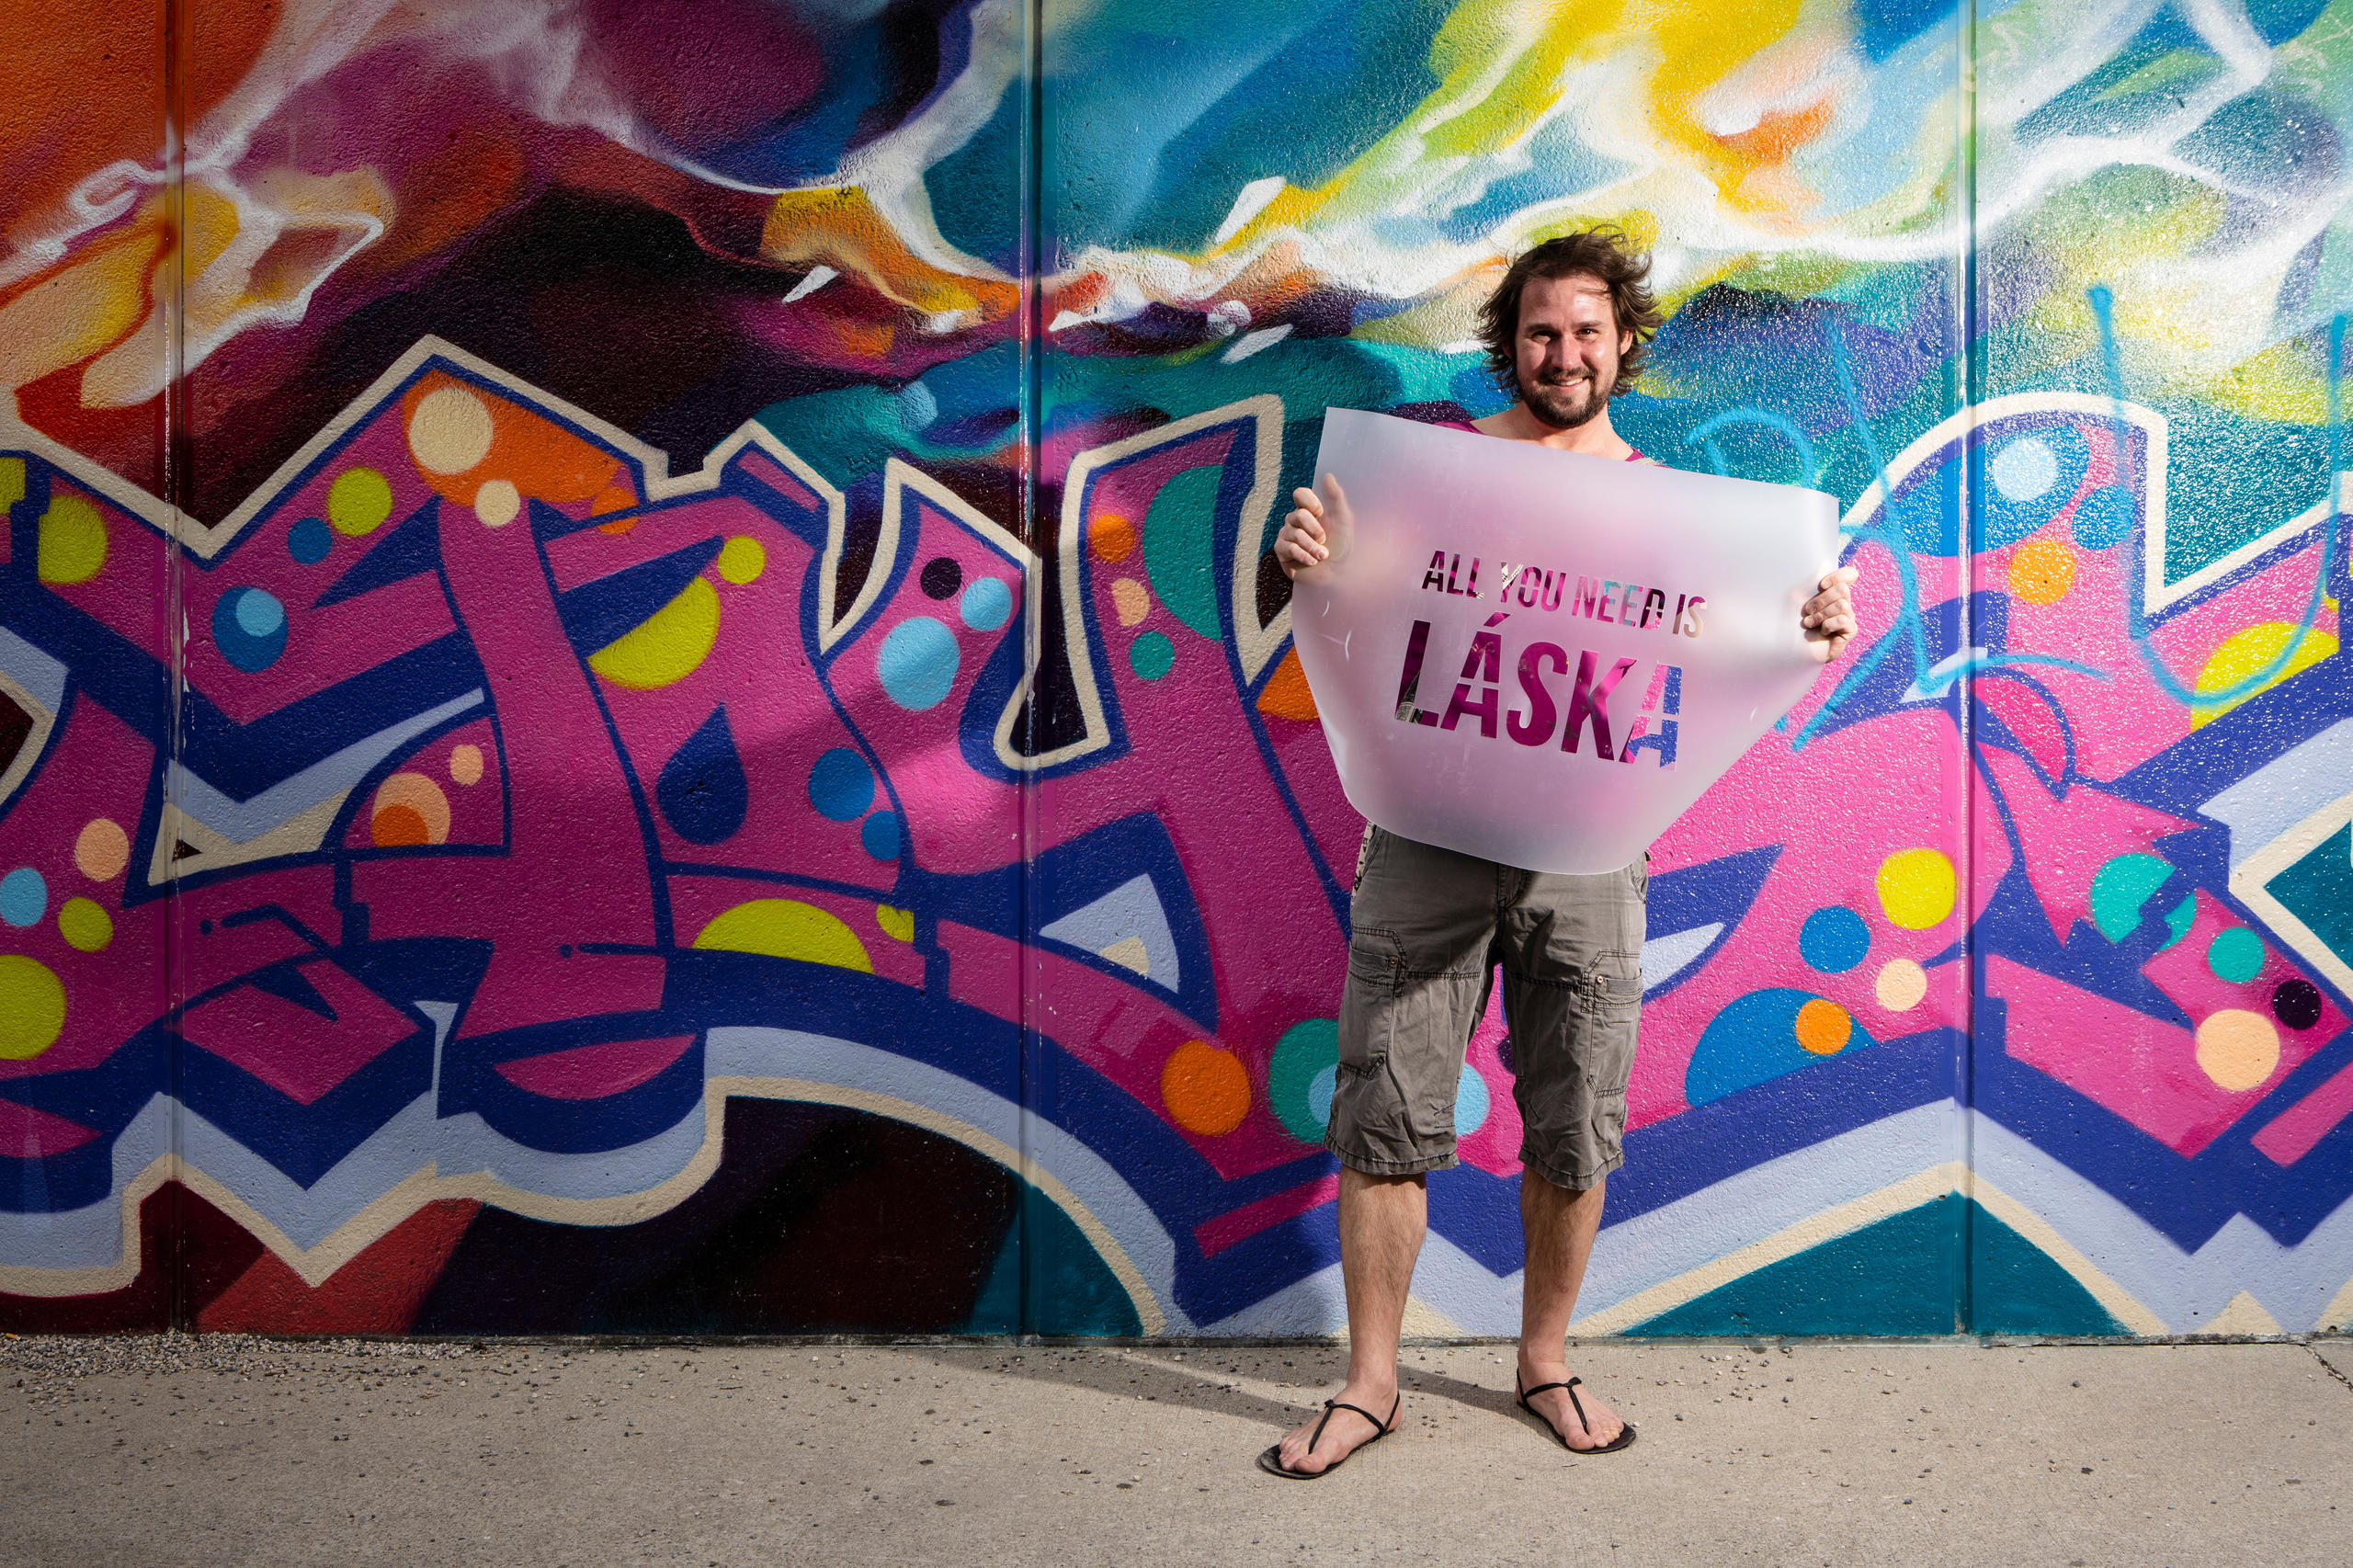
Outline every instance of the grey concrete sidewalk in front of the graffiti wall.
<path id="1" fill-rule="evenodd" d="M 1577 1347 L 1640 1427 L 1562 1453 L 1511 1349 L 1407 1351 L 1398 1436 L 1252 1455 L 1344 1351 L 0 1344 L 0 1561 L 2353 1561 L 2353 1344 Z"/>

